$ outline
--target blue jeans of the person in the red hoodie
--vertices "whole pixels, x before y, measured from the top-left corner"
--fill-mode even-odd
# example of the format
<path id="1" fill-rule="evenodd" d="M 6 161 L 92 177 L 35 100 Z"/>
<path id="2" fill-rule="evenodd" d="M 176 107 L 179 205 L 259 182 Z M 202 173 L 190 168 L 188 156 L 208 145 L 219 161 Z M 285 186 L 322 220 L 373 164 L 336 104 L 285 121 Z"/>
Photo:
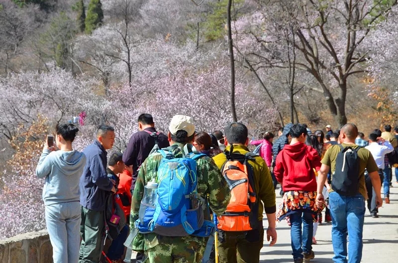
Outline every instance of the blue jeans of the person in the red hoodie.
<path id="1" fill-rule="evenodd" d="M 290 236 L 292 239 L 293 258 L 303 258 L 302 253 L 312 250 L 313 220 L 311 212 L 295 212 L 290 215 Z M 302 224 L 302 231 L 301 231 Z"/>

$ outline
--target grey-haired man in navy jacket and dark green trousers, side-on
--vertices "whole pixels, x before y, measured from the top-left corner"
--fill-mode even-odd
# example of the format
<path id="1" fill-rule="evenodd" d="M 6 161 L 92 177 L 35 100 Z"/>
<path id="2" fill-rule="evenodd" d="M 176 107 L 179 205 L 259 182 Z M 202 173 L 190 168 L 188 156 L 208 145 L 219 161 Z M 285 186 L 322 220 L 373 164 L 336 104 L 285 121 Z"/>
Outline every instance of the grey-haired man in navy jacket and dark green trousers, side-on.
<path id="1" fill-rule="evenodd" d="M 98 263 L 100 260 L 105 197 L 110 191 L 116 192 L 115 181 L 109 179 L 106 173 L 106 150 L 113 147 L 114 141 L 114 129 L 101 125 L 93 144 L 83 151 L 86 155 L 86 166 L 79 182 L 82 205 L 79 263 Z"/>

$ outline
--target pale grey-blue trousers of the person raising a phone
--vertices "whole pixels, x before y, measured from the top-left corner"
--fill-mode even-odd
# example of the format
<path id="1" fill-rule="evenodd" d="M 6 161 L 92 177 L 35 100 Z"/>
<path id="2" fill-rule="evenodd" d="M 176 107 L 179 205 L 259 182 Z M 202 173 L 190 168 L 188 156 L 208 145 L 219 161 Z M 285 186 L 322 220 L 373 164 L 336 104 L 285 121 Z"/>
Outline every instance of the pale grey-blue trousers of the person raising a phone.
<path id="1" fill-rule="evenodd" d="M 78 263 L 81 208 L 79 201 L 45 206 L 54 263 Z"/>

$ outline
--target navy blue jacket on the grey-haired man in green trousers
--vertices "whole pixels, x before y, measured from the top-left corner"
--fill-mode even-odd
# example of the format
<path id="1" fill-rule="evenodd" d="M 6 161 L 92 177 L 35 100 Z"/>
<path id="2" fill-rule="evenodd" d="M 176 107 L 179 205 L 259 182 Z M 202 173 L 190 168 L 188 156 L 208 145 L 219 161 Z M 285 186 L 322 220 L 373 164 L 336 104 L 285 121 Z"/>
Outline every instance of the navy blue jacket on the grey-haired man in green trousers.
<path id="1" fill-rule="evenodd" d="M 113 187 L 106 173 L 107 152 L 96 139 L 83 153 L 86 155 L 86 166 L 79 182 L 80 204 L 87 209 L 103 211 L 106 194 Z"/>

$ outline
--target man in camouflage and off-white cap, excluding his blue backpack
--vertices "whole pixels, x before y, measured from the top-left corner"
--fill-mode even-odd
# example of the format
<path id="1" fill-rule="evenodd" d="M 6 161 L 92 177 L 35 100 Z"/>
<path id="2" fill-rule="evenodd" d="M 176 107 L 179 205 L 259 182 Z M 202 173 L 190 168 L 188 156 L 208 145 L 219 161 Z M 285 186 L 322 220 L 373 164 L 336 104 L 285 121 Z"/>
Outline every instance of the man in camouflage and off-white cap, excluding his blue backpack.
<path id="1" fill-rule="evenodd" d="M 176 158 L 183 157 L 184 145 L 193 141 L 195 125 L 191 117 L 176 115 L 169 126 L 170 147 Z M 150 155 L 142 164 L 138 173 L 133 192 L 130 215 L 130 229 L 134 228 L 134 222 L 138 219 L 139 208 L 147 182 L 156 178 L 162 156 L 159 153 Z M 211 160 L 203 157 L 197 160 L 198 194 L 205 198 L 211 210 L 221 215 L 229 203 L 230 191 L 220 170 Z M 205 218 L 210 220 L 210 218 Z M 132 249 L 144 252 L 149 263 L 199 263 L 202 260 L 207 238 L 195 236 L 166 237 L 155 233 L 138 233 L 133 240 Z"/>

